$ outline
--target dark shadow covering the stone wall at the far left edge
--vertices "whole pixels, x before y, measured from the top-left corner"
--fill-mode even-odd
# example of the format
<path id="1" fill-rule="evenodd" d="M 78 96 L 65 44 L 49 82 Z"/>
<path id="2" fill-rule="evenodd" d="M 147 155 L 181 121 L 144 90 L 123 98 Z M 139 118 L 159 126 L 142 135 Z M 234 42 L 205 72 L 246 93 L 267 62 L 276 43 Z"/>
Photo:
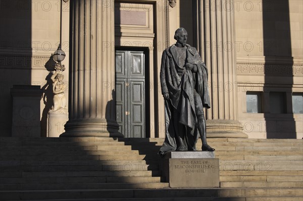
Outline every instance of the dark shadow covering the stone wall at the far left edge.
<path id="1" fill-rule="evenodd" d="M 0 136 L 12 134 L 13 85 L 31 85 L 32 1 L 0 1 Z M 24 125 L 25 126 L 25 125 Z"/>

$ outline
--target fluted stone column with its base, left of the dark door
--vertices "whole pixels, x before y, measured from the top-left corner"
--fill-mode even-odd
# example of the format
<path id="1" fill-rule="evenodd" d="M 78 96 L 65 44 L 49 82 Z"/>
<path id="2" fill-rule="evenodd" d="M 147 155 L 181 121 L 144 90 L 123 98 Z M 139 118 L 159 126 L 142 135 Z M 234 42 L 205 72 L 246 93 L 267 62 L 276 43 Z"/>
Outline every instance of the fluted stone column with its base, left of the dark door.
<path id="1" fill-rule="evenodd" d="M 60 137 L 123 137 L 115 120 L 114 0 L 70 4 L 69 120 Z"/>

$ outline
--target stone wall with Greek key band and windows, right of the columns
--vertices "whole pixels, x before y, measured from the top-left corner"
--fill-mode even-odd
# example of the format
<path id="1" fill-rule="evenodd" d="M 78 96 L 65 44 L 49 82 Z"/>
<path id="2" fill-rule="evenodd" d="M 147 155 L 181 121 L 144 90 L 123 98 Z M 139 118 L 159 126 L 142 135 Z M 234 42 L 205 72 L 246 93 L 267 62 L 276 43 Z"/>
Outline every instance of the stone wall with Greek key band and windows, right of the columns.
<path id="1" fill-rule="evenodd" d="M 292 94 L 303 92 L 301 1 L 235 1 L 239 120 L 249 138 L 298 138 L 303 114 Z M 246 93 L 261 92 L 260 113 L 246 112 Z M 284 113 L 271 113 L 270 93 L 285 96 Z"/>

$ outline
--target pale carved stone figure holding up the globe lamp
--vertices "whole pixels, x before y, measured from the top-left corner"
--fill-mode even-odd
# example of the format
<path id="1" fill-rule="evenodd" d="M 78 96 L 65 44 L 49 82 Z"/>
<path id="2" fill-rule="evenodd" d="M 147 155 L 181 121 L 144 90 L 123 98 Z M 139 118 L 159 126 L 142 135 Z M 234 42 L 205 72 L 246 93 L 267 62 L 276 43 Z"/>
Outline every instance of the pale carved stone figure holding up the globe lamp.
<path id="1" fill-rule="evenodd" d="M 68 87 L 66 83 L 63 82 L 64 75 L 62 71 L 65 70 L 64 65 L 56 64 L 56 72 L 52 75 L 51 79 L 53 81 L 53 93 L 54 93 L 54 105 L 49 110 L 48 113 L 64 113 L 67 114 L 68 109 L 66 107 L 66 98 L 64 90 Z"/>

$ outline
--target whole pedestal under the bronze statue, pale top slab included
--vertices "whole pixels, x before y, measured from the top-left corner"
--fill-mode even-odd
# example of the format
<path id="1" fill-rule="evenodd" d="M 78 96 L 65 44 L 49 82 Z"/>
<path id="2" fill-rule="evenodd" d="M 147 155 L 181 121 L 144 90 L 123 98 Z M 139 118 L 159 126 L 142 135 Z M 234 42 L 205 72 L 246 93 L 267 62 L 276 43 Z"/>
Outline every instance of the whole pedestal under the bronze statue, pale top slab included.
<path id="1" fill-rule="evenodd" d="M 219 159 L 214 152 L 170 152 L 162 171 L 172 188 L 220 187 Z"/>

